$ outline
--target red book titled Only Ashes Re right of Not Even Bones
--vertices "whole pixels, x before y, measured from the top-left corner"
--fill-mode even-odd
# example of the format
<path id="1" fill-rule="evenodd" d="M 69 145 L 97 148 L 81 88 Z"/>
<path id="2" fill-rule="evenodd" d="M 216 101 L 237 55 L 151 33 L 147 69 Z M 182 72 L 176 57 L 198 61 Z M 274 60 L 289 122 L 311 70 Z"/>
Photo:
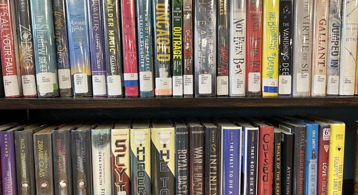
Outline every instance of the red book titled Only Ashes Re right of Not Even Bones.
<path id="1" fill-rule="evenodd" d="M 247 1 L 246 95 L 261 95 L 262 0 Z"/>

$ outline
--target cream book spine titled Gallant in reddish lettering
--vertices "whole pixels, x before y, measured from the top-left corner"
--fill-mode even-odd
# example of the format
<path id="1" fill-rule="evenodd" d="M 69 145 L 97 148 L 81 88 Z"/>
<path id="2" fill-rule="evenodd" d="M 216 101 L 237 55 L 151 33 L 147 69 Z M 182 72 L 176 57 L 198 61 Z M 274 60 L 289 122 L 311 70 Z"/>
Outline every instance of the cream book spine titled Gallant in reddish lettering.
<path id="1" fill-rule="evenodd" d="M 311 95 L 326 95 L 328 0 L 315 0 L 313 17 Z"/>

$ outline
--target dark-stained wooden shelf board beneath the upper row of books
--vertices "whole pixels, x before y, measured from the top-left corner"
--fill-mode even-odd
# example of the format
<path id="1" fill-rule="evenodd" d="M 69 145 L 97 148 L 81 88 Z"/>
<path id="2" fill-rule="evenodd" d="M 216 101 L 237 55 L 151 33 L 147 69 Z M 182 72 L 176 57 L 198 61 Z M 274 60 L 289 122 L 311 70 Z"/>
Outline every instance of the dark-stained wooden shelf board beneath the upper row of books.
<path id="1" fill-rule="evenodd" d="M 358 96 L 213 98 L 0 98 L 0 109 L 358 106 Z"/>

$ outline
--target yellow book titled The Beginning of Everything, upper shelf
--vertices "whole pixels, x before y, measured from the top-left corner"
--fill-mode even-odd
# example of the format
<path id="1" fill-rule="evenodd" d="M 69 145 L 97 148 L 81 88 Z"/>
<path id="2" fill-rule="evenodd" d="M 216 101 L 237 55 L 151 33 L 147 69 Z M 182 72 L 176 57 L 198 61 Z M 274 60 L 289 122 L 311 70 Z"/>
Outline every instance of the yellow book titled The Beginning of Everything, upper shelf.
<path id="1" fill-rule="evenodd" d="M 263 0 L 262 96 L 279 90 L 279 0 Z"/>

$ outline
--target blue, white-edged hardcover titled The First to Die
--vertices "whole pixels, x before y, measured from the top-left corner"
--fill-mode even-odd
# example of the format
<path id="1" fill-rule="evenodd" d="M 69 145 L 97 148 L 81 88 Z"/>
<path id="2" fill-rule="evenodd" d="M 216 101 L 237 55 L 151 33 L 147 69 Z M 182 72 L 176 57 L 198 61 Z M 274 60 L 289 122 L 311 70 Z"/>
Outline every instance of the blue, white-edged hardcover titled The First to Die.
<path id="1" fill-rule="evenodd" d="M 242 127 L 227 119 L 216 120 L 215 124 L 221 127 L 220 194 L 240 194 Z"/>

